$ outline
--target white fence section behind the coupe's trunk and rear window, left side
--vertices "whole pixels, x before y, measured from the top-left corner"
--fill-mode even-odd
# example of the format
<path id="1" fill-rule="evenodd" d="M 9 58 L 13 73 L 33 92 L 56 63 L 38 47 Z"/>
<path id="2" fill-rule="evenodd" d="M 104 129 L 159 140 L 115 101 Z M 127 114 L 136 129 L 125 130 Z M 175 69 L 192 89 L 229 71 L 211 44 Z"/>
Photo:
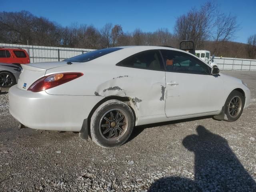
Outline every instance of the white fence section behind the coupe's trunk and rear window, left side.
<path id="1" fill-rule="evenodd" d="M 16 45 L 5 43 L 0 43 L 0 47 L 1 46 L 18 47 L 25 49 L 28 52 L 31 63 L 62 61 L 64 59 L 74 57 L 85 52 L 93 51 L 93 49 Z"/>

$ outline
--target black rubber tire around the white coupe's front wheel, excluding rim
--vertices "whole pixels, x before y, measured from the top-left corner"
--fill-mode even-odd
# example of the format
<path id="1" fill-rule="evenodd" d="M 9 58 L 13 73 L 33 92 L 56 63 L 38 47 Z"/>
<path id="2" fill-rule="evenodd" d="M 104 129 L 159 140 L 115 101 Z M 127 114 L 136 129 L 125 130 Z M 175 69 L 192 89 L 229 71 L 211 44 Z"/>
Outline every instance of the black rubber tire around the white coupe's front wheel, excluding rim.
<path id="1" fill-rule="evenodd" d="M 238 116 L 236 116 L 236 117 L 230 116 L 230 114 L 229 114 L 229 112 L 228 112 L 230 100 L 231 100 L 234 96 L 239 96 L 239 97 L 241 98 L 241 100 L 242 100 L 241 110 L 240 110 Z M 239 91 L 234 90 L 234 91 L 232 91 L 232 92 L 229 94 L 229 96 L 228 96 L 228 98 L 227 98 L 227 100 L 226 100 L 226 102 L 225 102 L 225 115 L 227 116 L 229 122 L 234 122 L 234 121 L 238 120 L 238 118 L 241 116 L 241 114 L 242 114 L 242 112 L 243 112 L 243 109 L 244 109 L 244 102 L 245 102 L 244 96 L 243 96 L 242 93 L 240 93 Z"/>

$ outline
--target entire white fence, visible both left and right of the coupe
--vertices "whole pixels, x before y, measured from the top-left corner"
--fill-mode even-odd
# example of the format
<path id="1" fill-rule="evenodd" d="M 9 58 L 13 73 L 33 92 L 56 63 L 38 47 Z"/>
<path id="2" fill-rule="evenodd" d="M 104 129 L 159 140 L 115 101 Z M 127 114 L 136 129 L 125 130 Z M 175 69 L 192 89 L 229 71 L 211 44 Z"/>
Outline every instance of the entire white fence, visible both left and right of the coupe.
<path id="1" fill-rule="evenodd" d="M 0 43 L 0 47 L 1 46 L 19 47 L 25 49 L 30 56 L 31 63 L 62 61 L 85 52 L 93 51 L 93 49 L 16 45 L 5 43 Z M 220 70 L 256 70 L 256 60 L 215 57 L 214 62 L 218 65 Z"/>

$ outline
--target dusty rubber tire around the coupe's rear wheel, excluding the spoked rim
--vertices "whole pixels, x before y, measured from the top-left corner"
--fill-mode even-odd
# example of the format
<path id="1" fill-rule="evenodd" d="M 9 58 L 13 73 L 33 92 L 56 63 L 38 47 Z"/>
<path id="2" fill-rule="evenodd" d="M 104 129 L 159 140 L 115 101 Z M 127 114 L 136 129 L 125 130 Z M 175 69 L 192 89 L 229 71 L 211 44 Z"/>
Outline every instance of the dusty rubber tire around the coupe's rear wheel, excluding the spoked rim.
<path id="1" fill-rule="evenodd" d="M 127 126 L 126 132 L 124 133 L 124 135 L 121 138 L 119 138 L 118 140 L 117 139 L 116 140 L 107 140 L 100 133 L 99 124 L 100 124 L 100 120 L 101 120 L 102 116 L 108 110 L 111 110 L 114 108 L 120 109 L 126 113 L 126 115 L 128 117 L 128 119 L 127 119 L 128 126 Z M 92 115 L 91 124 L 90 124 L 92 141 L 104 148 L 114 148 L 114 147 L 120 146 L 128 140 L 128 138 L 132 134 L 133 127 L 134 127 L 134 116 L 133 116 L 133 113 L 132 113 L 132 110 L 130 109 L 130 107 L 119 100 L 109 100 L 109 101 L 103 103 L 102 105 L 100 105 L 96 109 L 94 114 Z"/>

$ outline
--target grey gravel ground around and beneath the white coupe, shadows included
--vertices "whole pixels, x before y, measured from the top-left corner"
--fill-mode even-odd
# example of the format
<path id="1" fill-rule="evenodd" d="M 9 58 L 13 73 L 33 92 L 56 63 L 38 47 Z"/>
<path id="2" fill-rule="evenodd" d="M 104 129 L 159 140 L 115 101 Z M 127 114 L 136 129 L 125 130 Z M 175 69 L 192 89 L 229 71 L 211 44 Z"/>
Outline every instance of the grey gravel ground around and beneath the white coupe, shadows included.
<path id="1" fill-rule="evenodd" d="M 194 118 L 138 126 L 104 149 L 73 132 L 17 130 L 0 95 L 0 191 L 256 191 L 256 72 L 236 122 Z"/>

